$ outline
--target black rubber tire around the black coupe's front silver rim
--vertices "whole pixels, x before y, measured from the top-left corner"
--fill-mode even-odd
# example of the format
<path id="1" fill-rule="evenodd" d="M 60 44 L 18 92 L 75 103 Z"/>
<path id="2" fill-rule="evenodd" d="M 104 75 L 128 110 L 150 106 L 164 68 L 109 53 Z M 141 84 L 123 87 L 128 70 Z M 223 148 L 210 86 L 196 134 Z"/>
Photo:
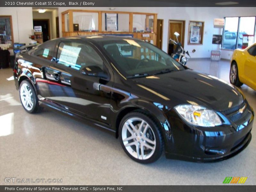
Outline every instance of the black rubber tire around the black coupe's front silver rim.
<path id="1" fill-rule="evenodd" d="M 139 158 L 136 158 L 136 157 L 134 157 L 134 156 L 132 156 L 131 154 L 130 154 L 130 152 L 126 149 L 126 147 L 124 146 L 124 142 L 123 142 L 123 136 L 122 136 L 122 130 L 123 130 L 123 126 L 124 126 L 124 123 L 128 120 L 128 119 L 131 119 L 131 118 L 140 118 L 140 119 L 142 119 L 142 120 L 144 120 L 145 121 L 145 124 L 148 124 L 150 127 L 149 128 L 151 128 L 151 129 L 147 129 L 147 130 L 149 130 L 149 132 L 151 132 L 151 136 L 153 135 L 154 136 L 154 140 L 151 140 L 151 141 L 154 141 L 155 142 L 155 149 L 154 149 L 154 152 L 153 152 L 153 150 L 151 150 L 151 156 L 149 157 L 149 158 L 147 158 L 147 159 L 139 159 Z M 124 149 L 124 151 L 125 151 L 125 153 L 131 158 L 131 159 L 133 159 L 134 161 L 136 161 L 136 162 L 139 162 L 139 163 L 142 163 L 142 164 L 148 164 L 148 163 L 153 163 L 153 162 L 155 162 L 156 160 L 158 160 L 159 158 L 160 158 L 160 156 L 163 154 L 163 150 L 164 150 L 164 140 L 163 140 L 163 136 L 162 136 L 162 134 L 161 134 L 161 131 L 160 131 L 160 129 L 159 129 L 159 127 L 158 127 L 158 125 L 157 125 L 157 123 L 156 123 L 156 121 L 154 120 L 155 118 L 153 118 L 152 116 L 150 116 L 148 113 L 146 113 L 146 112 L 144 112 L 144 111 L 142 111 L 142 110 L 135 110 L 135 111 L 132 111 L 131 113 L 128 113 L 127 115 L 125 115 L 124 117 L 123 117 L 123 119 L 122 119 L 122 121 L 120 122 L 120 124 L 119 124 L 119 140 L 120 140 L 120 143 L 121 143 L 121 146 L 122 146 L 122 148 Z M 137 125 L 136 125 L 137 126 Z M 146 125 L 145 125 L 146 126 Z M 145 127 L 144 127 L 144 129 L 145 129 Z M 152 134 L 152 131 L 153 131 L 153 134 Z M 146 134 L 148 134 L 148 131 L 146 132 Z M 146 135 L 145 135 L 146 136 Z M 135 136 L 136 137 L 136 136 Z M 142 138 L 143 136 L 141 136 L 141 138 Z M 147 136 L 146 136 L 147 137 Z M 143 140 L 143 139 L 138 139 L 138 140 L 140 140 L 140 142 L 142 143 L 142 142 L 144 142 L 144 143 L 146 143 L 146 144 L 148 144 L 147 143 L 147 141 L 146 141 L 146 139 L 145 140 Z M 145 138 L 145 137 L 144 137 Z M 152 139 L 152 137 L 150 137 L 151 139 Z M 147 139 L 149 139 L 148 137 L 147 137 Z M 135 140 L 136 139 L 132 139 L 131 140 L 131 142 L 135 142 Z M 138 140 L 137 140 L 137 142 L 138 142 Z M 127 141 L 128 142 L 128 141 Z M 139 143 L 140 143 L 139 142 Z M 147 150 L 150 150 L 150 149 L 146 149 L 147 147 L 145 147 L 144 148 L 144 143 L 143 144 L 140 144 L 139 146 L 139 153 L 140 153 L 140 157 L 142 156 L 142 154 L 141 154 L 141 146 L 142 146 L 142 148 L 143 148 L 143 151 L 146 151 L 147 152 Z M 131 147 L 131 146 L 130 146 Z M 136 148 L 136 146 L 134 147 L 134 148 Z M 133 151 L 132 151 L 133 152 Z M 134 152 L 134 153 L 136 153 L 136 152 Z M 144 154 L 144 152 L 143 152 L 143 154 Z M 146 154 L 146 155 L 148 155 L 148 154 Z"/>

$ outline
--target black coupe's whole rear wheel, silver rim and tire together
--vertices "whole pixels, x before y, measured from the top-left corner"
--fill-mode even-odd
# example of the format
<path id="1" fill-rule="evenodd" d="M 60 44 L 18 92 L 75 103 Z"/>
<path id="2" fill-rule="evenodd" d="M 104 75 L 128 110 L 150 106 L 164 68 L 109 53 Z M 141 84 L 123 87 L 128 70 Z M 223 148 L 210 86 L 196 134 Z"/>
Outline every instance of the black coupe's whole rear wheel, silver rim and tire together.
<path id="1" fill-rule="evenodd" d="M 28 80 L 23 80 L 20 83 L 20 101 L 28 113 L 37 113 L 43 109 L 39 106 L 34 87 Z"/>

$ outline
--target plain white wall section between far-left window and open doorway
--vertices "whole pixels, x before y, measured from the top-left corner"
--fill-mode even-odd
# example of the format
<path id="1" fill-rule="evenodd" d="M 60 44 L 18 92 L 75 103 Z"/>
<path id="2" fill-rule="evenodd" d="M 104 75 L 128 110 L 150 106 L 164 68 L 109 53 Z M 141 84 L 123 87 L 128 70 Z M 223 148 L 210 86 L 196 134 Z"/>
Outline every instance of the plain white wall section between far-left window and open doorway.
<path id="1" fill-rule="evenodd" d="M 12 15 L 13 42 L 28 45 L 33 29 L 32 7 L 0 7 L 0 15 Z"/>

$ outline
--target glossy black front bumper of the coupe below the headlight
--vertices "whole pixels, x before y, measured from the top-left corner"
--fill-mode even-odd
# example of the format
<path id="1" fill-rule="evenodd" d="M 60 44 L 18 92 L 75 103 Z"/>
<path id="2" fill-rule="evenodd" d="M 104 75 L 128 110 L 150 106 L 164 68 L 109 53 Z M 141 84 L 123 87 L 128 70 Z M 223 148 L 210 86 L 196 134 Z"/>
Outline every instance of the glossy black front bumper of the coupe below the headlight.
<path id="1" fill-rule="evenodd" d="M 169 111 L 171 137 L 166 140 L 166 158 L 194 162 L 215 162 L 241 152 L 251 141 L 254 113 L 248 105 L 247 114 L 236 122 L 216 127 L 195 127 L 184 123 Z M 170 116 L 171 115 L 171 116 Z"/>

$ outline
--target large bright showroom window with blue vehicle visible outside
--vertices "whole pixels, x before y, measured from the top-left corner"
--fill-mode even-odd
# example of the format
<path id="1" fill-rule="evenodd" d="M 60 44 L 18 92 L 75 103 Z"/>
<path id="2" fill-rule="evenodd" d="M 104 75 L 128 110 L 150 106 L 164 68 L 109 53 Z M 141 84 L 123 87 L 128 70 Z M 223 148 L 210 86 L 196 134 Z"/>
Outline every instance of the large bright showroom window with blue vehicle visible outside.
<path id="1" fill-rule="evenodd" d="M 238 30 L 239 29 L 239 30 Z M 255 17 L 226 17 L 223 29 L 223 49 L 237 49 L 243 46 L 243 35 L 255 36 Z M 237 38 L 238 34 L 238 38 Z M 249 46 L 255 42 L 255 37 L 250 37 Z"/>

